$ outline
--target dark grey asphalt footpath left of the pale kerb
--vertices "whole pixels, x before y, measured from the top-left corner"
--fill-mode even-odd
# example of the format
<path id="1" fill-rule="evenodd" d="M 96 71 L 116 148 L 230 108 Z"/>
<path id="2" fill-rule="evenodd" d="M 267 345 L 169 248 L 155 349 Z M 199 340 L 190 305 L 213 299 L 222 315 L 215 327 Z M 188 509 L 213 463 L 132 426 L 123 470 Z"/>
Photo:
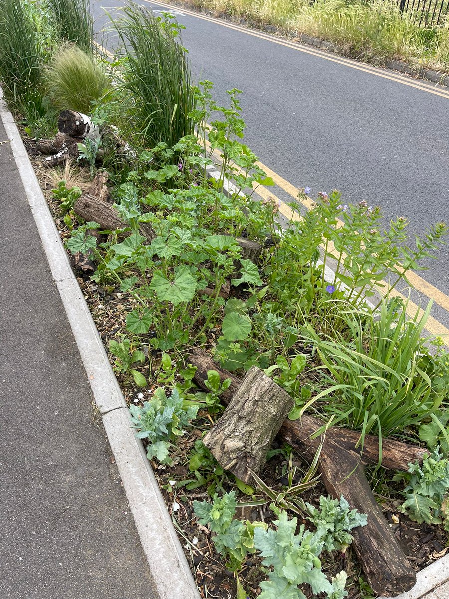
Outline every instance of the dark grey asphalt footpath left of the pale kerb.
<path id="1" fill-rule="evenodd" d="M 0 193 L 0 595 L 158 599 L 1 120 Z"/>

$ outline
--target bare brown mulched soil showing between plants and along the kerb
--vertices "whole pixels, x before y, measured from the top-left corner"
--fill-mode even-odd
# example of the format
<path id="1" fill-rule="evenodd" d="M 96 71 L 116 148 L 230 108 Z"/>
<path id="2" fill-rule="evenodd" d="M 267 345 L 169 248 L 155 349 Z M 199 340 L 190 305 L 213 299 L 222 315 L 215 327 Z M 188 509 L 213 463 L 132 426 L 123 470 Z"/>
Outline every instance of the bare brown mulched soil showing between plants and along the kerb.
<path id="1" fill-rule="evenodd" d="M 31 162 L 43 187 L 56 226 L 62 239 L 65 240 L 69 237 L 70 231 L 63 222 L 62 216 L 60 216 L 57 201 L 51 198 L 53 185 L 45 176 L 45 168 L 42 167 L 43 157 L 35 152 L 33 144 L 27 143 L 26 136 L 24 135 L 24 137 Z M 129 295 L 121 293 L 118 288 L 98 285 L 90 281 L 87 276 L 78 276 L 78 283 L 80 283 L 84 297 L 86 297 L 89 304 L 105 347 L 108 347 L 109 342 L 117 334 L 125 333 L 125 316 L 129 311 L 132 299 Z M 157 352 L 153 353 L 154 372 L 160 355 Z M 142 372 L 148 379 L 150 377 L 150 366 L 146 367 L 146 372 L 145 370 Z M 117 379 L 119 379 L 123 394 L 129 404 L 145 401 L 155 386 L 150 385 L 145 389 L 136 390 L 131 386 L 127 377 L 117 374 Z M 175 448 L 174 455 L 172 455 L 174 459 L 172 467 L 160 465 L 156 462 L 152 462 L 152 466 L 181 545 L 184 548 L 187 561 L 198 584 L 201 597 L 233 599 L 236 594 L 235 574 L 227 570 L 223 564 L 223 559 L 214 550 L 210 531 L 198 524 L 193 513 L 192 502 L 207 499 L 206 489 L 200 487 L 188 491 L 183 484 L 186 479 L 192 478 L 192 473 L 188 470 L 189 452 L 192 450 L 195 441 L 201 437 L 202 431 L 211 426 L 210 418 L 207 418 L 206 414 L 203 416 L 204 418 L 199 420 L 198 428 L 191 431 L 188 436 L 181 438 L 180 443 Z M 300 468 L 307 468 L 307 464 L 301 462 L 299 456 L 293 456 L 293 461 Z M 280 489 L 283 482 L 286 482 L 285 468 L 286 459 L 279 453 L 267 462 L 261 477 L 272 488 Z M 393 488 L 389 486 L 387 492 L 383 489 L 383 494 L 375 495 L 405 555 L 411 561 L 415 570 L 418 571 L 447 552 L 449 549 L 449 546 L 447 546 L 448 533 L 444 531 L 443 527 L 417 524 L 401 514 L 398 510 L 399 505 L 402 503 L 401 496 L 397 492 L 399 487 L 395 489 L 395 483 L 392 484 Z M 230 491 L 235 489 L 235 486 L 225 480 L 223 488 Z M 318 498 L 323 494 L 326 495 L 326 489 L 318 483 L 313 489 L 305 492 L 302 498 L 305 501 L 317 504 Z M 260 498 L 263 497 L 262 494 L 259 495 Z M 248 500 L 248 497 L 239 494 L 238 500 L 245 501 Z M 265 522 L 270 522 L 273 519 L 268 504 L 257 508 L 246 507 L 241 510 L 240 515 L 246 519 L 260 519 Z M 306 520 L 301 518 L 298 518 L 298 520 L 298 525 L 308 525 Z M 363 572 L 351 547 L 345 553 L 323 553 L 320 557 L 323 562 L 323 570 L 329 576 L 335 576 L 341 570 L 346 571 L 348 575 L 348 599 L 368 599 L 375 596 L 371 594 L 371 589 L 366 585 Z M 265 579 L 263 570 L 260 568 L 260 558 L 248 555 L 240 579 L 250 597 L 257 597 L 260 594 L 259 583 Z M 303 591 L 308 599 L 313 597 L 310 588 L 304 588 Z"/>

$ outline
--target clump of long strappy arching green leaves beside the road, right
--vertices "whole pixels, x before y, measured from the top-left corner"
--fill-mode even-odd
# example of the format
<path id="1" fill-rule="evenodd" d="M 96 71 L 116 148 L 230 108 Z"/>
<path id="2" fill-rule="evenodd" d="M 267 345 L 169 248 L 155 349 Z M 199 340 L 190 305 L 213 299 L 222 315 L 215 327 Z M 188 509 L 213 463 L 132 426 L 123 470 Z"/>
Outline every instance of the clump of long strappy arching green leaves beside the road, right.
<path id="1" fill-rule="evenodd" d="M 383 302 L 378 315 L 347 318 L 347 343 L 320 339 L 308 325 L 303 336 L 313 342 L 321 361 L 315 371 L 324 391 L 302 410 L 326 398 L 323 412 L 362 431 L 362 445 L 373 430 L 387 437 L 429 418 L 445 397 L 437 377 L 427 374 L 426 340 L 421 338 L 431 307 L 429 302 L 423 314 L 407 318 L 406 302 L 399 311 Z"/>

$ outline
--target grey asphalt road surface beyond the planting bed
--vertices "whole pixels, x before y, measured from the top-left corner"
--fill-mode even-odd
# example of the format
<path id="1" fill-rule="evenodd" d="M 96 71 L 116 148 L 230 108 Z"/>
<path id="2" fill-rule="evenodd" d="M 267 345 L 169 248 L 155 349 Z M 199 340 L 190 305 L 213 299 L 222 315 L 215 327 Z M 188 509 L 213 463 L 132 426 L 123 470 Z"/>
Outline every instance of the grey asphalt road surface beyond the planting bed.
<path id="1" fill-rule="evenodd" d="M 159 2 L 138 3 L 164 10 Z M 125 2 L 92 4 L 98 30 L 109 21 L 104 9 Z M 449 89 L 191 11 L 172 12 L 186 27 L 193 79 L 213 81 L 220 102 L 227 89 L 243 90 L 245 142 L 263 164 L 293 186 L 310 186 L 311 196 L 339 189 L 345 202 L 365 199 L 388 219 L 405 216 L 412 233 L 449 223 Z M 114 43 L 106 35 L 110 49 Z M 279 188 L 275 193 L 291 199 Z M 443 248 L 439 255 L 420 274 L 445 294 L 436 316 L 449 326 L 449 253 Z"/>

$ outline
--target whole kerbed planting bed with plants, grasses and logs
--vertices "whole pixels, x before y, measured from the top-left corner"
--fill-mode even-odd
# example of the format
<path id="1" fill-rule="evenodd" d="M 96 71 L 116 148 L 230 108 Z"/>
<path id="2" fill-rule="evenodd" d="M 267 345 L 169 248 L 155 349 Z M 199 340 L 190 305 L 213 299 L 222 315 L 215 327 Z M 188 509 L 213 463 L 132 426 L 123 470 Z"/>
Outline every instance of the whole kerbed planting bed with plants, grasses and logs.
<path id="1" fill-rule="evenodd" d="M 192 86 L 169 17 L 129 5 L 105 60 L 54 4 L 5 1 L 0 32 L 22 10 L 42 71 L 31 98 L 0 63 L 5 91 L 201 596 L 411 588 L 447 546 L 449 355 L 396 288 L 447 227 L 411 243 L 404 218 L 306 188 L 282 228 L 239 90 Z"/>

